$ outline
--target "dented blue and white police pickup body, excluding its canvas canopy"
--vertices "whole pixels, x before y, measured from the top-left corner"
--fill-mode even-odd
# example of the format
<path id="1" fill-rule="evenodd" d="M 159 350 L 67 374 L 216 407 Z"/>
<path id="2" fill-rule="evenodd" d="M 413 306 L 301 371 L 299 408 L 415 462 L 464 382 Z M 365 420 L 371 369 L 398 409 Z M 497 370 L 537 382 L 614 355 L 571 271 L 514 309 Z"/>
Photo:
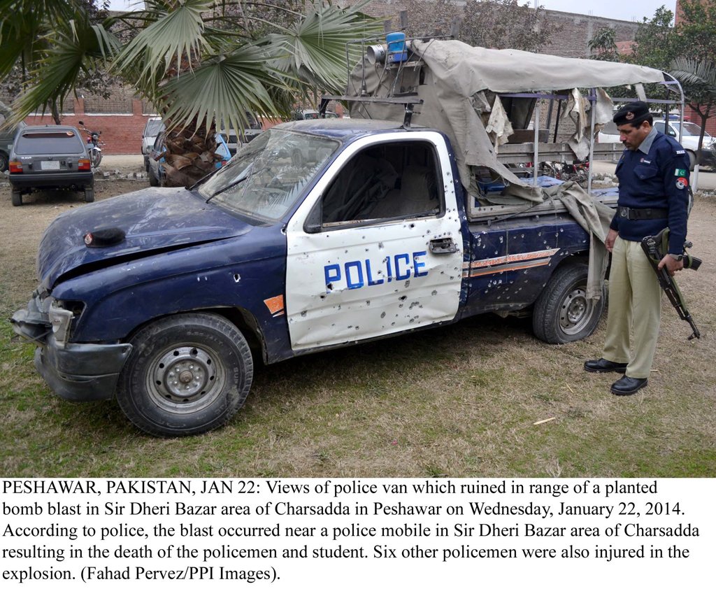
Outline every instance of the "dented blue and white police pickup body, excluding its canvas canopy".
<path id="1" fill-rule="evenodd" d="M 485 214 L 446 133 L 358 114 L 274 127 L 193 188 L 59 216 L 12 318 L 50 388 L 183 436 L 236 413 L 256 359 L 483 312 L 531 312 L 550 343 L 593 332 L 594 231 L 546 198 Z"/>

